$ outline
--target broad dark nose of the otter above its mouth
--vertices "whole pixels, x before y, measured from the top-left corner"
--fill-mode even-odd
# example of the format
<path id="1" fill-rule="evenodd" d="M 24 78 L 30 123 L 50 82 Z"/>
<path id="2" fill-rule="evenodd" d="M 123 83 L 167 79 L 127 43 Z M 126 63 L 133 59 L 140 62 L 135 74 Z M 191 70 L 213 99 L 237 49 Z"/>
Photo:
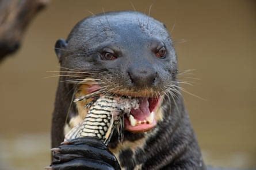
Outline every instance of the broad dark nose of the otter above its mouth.
<path id="1" fill-rule="evenodd" d="M 129 69 L 129 78 L 133 85 L 138 88 L 154 85 L 157 72 L 155 69 Z"/>

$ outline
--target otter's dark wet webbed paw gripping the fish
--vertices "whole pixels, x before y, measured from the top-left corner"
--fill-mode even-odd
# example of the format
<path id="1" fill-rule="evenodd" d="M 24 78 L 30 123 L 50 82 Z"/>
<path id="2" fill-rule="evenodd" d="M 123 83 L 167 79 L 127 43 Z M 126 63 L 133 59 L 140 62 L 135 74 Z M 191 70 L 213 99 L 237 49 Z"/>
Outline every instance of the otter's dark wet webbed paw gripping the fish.
<path id="1" fill-rule="evenodd" d="M 121 169 L 116 157 L 101 140 L 82 137 L 52 148 L 53 161 L 46 169 Z"/>

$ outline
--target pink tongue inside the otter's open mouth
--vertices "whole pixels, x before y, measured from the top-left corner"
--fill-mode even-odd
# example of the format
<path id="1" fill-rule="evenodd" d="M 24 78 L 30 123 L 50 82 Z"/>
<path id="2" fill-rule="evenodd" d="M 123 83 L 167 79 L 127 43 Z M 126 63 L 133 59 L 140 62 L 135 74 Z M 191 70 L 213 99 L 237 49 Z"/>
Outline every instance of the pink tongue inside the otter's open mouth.
<path id="1" fill-rule="evenodd" d="M 148 107 L 148 98 L 140 98 L 140 105 L 138 109 L 132 109 L 131 114 L 136 120 L 146 120 L 146 117 L 150 116 L 150 109 Z"/>

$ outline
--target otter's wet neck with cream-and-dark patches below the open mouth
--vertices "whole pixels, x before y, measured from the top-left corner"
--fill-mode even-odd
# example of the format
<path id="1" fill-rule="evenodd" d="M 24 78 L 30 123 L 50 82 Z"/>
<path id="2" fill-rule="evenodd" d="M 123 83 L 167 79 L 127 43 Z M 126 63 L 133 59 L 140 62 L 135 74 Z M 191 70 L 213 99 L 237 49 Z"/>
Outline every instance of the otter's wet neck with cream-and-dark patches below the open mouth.
<path id="1" fill-rule="evenodd" d="M 175 168 L 175 164 L 178 165 L 179 161 L 184 159 L 187 164 L 204 169 L 200 148 L 184 108 L 182 96 L 178 96 L 175 101 L 166 97 L 162 102 L 161 112 L 163 120 L 159 121 L 151 132 L 146 132 L 143 136 L 133 134 L 133 138 L 128 137 L 123 144 L 110 144 L 110 151 L 117 157 L 121 167 L 160 169 L 173 164 Z"/>

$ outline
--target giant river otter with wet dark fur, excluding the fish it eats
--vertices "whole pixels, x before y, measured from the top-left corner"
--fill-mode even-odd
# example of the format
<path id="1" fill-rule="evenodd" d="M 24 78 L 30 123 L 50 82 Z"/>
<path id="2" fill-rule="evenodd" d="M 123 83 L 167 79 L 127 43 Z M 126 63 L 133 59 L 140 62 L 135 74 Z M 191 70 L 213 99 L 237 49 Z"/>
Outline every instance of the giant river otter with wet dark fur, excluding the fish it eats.
<path id="1" fill-rule="evenodd" d="M 52 118 L 51 169 L 206 169 L 179 91 L 177 56 L 166 26 L 135 11 L 94 15 L 77 23 L 55 52 L 60 80 Z M 124 140 L 62 143 L 83 121 L 89 101 L 105 90 L 139 100 L 124 117 Z M 60 144 L 62 143 L 62 144 Z"/>

